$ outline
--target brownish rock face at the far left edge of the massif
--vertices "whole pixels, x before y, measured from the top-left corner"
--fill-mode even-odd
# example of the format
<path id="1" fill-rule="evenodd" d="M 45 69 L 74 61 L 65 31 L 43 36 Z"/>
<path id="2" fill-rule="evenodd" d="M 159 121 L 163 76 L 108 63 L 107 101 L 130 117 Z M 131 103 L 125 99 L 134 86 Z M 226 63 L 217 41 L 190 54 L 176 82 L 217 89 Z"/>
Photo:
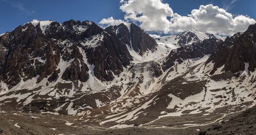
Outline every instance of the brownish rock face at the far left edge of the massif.
<path id="1" fill-rule="evenodd" d="M 37 34 L 37 28 L 32 23 L 19 26 L 5 35 L 0 37 L 3 41 L 0 44 L 8 50 L 8 54 L 5 55 L 1 74 L 9 87 L 37 75 L 40 82 L 56 69 L 60 60 L 59 51 L 44 35 Z"/>

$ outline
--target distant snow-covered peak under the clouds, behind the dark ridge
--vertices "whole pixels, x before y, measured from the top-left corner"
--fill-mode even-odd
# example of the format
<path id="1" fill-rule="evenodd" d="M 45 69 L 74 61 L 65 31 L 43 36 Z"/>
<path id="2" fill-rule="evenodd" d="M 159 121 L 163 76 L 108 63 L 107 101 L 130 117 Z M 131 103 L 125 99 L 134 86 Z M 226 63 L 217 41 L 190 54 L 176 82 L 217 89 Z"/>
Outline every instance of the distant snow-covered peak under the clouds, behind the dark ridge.
<path id="1" fill-rule="evenodd" d="M 182 45 L 191 45 L 192 43 L 195 43 L 197 41 L 203 41 L 210 38 L 224 40 L 224 38 L 221 36 L 209 34 L 209 33 L 203 33 L 193 29 L 181 32 L 176 35 L 155 38 L 155 40 L 158 43 L 174 44 L 174 45 L 182 46 Z"/>

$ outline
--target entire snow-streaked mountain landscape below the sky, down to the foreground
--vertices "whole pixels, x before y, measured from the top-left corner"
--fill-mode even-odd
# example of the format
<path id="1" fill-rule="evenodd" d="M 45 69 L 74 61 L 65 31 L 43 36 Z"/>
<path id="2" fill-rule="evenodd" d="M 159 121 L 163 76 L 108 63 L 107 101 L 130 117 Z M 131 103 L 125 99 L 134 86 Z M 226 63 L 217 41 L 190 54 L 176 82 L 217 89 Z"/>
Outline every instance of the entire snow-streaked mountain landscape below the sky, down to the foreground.
<path id="1" fill-rule="evenodd" d="M 253 135 L 255 69 L 256 24 L 154 39 L 34 20 L 0 35 L 0 134 Z"/>

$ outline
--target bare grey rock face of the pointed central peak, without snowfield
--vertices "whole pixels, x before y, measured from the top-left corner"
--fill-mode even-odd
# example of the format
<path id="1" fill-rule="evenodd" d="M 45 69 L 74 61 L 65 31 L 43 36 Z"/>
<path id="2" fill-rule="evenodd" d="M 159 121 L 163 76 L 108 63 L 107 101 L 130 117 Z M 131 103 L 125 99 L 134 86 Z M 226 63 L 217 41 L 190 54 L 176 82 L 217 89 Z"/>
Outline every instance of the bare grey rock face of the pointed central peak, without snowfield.
<path id="1" fill-rule="evenodd" d="M 129 28 L 121 23 L 118 26 L 109 26 L 105 30 L 117 35 L 123 44 L 140 55 L 148 50 L 156 50 L 155 40 L 134 23 L 131 23 Z"/>

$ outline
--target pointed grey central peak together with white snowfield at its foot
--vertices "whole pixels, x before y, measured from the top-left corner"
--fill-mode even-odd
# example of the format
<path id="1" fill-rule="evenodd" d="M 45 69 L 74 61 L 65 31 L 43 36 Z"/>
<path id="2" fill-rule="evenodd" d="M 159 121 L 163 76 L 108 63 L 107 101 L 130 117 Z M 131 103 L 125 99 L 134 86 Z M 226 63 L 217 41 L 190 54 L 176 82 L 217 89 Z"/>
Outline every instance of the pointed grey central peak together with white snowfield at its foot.
<path id="1" fill-rule="evenodd" d="M 177 48 L 174 45 L 158 45 L 151 36 L 134 23 L 129 23 L 127 26 L 123 23 L 118 26 L 109 26 L 105 31 L 118 36 L 133 56 L 133 62 L 162 58 L 168 55 L 171 49 Z"/>

